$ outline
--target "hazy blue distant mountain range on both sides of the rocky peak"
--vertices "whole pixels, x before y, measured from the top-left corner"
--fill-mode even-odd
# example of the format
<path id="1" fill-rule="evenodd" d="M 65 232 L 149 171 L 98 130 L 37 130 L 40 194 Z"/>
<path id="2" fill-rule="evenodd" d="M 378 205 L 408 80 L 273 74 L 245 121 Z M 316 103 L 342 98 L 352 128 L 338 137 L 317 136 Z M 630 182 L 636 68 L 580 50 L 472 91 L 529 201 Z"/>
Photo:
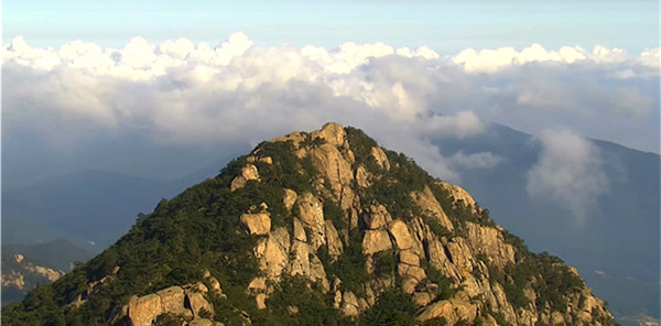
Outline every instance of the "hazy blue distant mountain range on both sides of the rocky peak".
<path id="1" fill-rule="evenodd" d="M 460 171 L 459 185 L 531 250 L 549 251 L 575 265 L 616 316 L 644 312 L 658 318 L 659 155 L 593 141 L 609 184 L 581 225 L 566 207 L 528 194 L 528 172 L 542 154 L 533 139 L 490 123 L 481 135 L 431 141 L 445 156 L 489 152 L 500 157 L 490 169 Z M 66 237 L 98 252 L 124 233 L 138 213 L 149 213 L 161 198 L 215 176 L 227 161 L 209 162 L 209 167 L 175 182 L 85 171 L 3 193 L 2 242 Z"/>

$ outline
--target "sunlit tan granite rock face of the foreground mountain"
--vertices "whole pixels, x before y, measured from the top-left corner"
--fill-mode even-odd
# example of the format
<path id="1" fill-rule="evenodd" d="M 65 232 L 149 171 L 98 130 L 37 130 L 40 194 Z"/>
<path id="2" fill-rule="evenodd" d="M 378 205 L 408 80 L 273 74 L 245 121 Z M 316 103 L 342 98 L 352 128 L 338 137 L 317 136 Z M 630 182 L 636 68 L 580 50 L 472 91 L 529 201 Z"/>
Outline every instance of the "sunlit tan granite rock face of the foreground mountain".
<path id="1" fill-rule="evenodd" d="M 269 144 L 281 152 L 267 149 Z M 251 274 L 225 287 L 234 271 L 217 279 L 206 271 L 199 282 L 130 296 L 108 324 L 152 325 L 162 315 L 174 315 L 183 325 L 214 325 L 223 312 L 248 325 L 249 313 L 228 308 L 228 295 L 242 293 L 249 300 L 239 300 L 250 302 L 256 314 L 268 315 L 281 304 L 277 297 L 283 282 L 302 280 L 300 291 L 321 293 L 324 304 L 356 323 L 378 307 L 383 293 L 398 291 L 415 306 L 415 323 L 443 318 L 446 325 L 610 325 L 604 302 L 575 270 L 530 253 L 466 191 L 432 178 L 355 129 L 327 123 L 261 146 L 236 162 L 224 184 L 214 184 L 223 196 L 247 193 L 234 203 L 241 207 L 231 216 L 236 229 L 224 236 L 243 237 L 249 249 L 240 254 L 254 263 L 248 269 Z M 291 174 L 274 176 L 275 171 Z M 301 185 L 303 177 L 310 184 Z M 268 188 L 263 198 L 256 191 L 260 188 Z M 196 202 L 189 214 L 213 225 L 219 214 L 209 207 L 224 211 L 218 208 L 224 203 L 214 202 L 220 197 Z M 204 254 L 228 264 L 238 260 L 227 252 Z M 215 268 L 208 269 L 218 272 L 224 265 Z M 348 268 L 353 270 L 343 270 Z M 89 282 L 69 305 L 84 305 L 120 274 Z M 556 283 L 563 278 L 574 283 Z M 221 289 L 232 291 L 225 294 Z M 219 297 L 226 300 L 223 308 Z M 282 314 L 301 317 L 306 312 L 296 303 L 286 305 Z"/>

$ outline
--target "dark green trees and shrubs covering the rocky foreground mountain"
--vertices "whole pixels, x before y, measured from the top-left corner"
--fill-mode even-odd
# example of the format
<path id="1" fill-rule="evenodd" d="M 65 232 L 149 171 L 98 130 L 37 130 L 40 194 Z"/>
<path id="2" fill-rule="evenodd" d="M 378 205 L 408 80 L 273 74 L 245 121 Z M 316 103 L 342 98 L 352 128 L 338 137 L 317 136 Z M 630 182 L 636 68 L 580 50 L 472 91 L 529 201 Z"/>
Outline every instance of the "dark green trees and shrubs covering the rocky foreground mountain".
<path id="1" fill-rule="evenodd" d="M 371 149 L 378 144 L 358 129 L 349 127 L 346 131 L 356 164 L 362 164 L 377 176 L 371 181 L 371 187 L 355 189 L 364 206 L 382 204 L 398 219 L 420 216 L 440 237 L 464 235 L 467 221 L 494 226 L 488 210 L 473 213 L 473 207 L 456 205 L 451 194 L 410 157 L 386 151 L 391 169 L 381 169 L 371 155 Z M 321 140 L 312 141 L 308 134 L 305 137 L 304 143 L 321 144 Z M 310 159 L 297 159 L 292 151 L 292 142 L 261 143 L 253 155 L 271 156 L 273 162 L 268 164 L 257 160 L 252 163 L 259 170 L 260 182 L 250 181 L 242 188 L 229 189 L 232 178 L 247 164 L 248 156 L 241 156 L 231 161 L 215 178 L 193 186 L 171 200 L 162 199 L 153 213 L 140 215 L 130 231 L 101 254 L 77 265 L 52 285 L 39 286 L 22 303 L 4 306 L 2 322 L 7 325 L 105 325 L 112 309 L 127 304 L 130 295 L 196 282 L 202 272 L 208 270 L 223 284 L 227 295 L 209 294 L 208 297 L 214 305 L 214 318 L 226 325 L 242 325 L 246 318 L 242 314 L 249 315 L 257 325 L 415 325 L 415 304 L 399 287 L 386 290 L 377 304 L 358 320 L 343 317 L 333 307 L 333 293 L 324 294 L 318 284 L 300 276 L 284 275 L 279 284 L 273 284 L 278 291 L 268 298 L 267 308 L 262 311 L 257 309 L 254 297 L 246 294 L 248 283 L 259 274 L 257 260 L 250 253 L 259 237 L 248 236 L 239 229 L 239 216 L 266 203 L 272 225 L 291 229 L 292 215 L 282 203 L 283 188 L 318 195 L 312 186 L 318 172 Z M 413 204 L 410 194 L 423 191 L 425 185 L 451 218 L 454 233 L 438 220 L 423 216 Z M 338 230 L 348 229 L 346 211 L 335 200 L 325 198 L 324 216 Z M 490 282 L 500 283 L 516 307 L 530 304 L 523 295 L 527 286 L 538 293 L 538 306 L 549 304 L 552 309 L 563 308 L 565 297 L 584 287 L 583 281 L 560 259 L 548 253 L 532 254 L 520 238 L 507 231 L 503 233 L 506 241 L 516 247 L 517 263 L 499 269 L 490 265 L 484 254 L 478 254 L 477 259 L 487 263 Z M 340 290 L 358 296 L 365 295 L 364 285 L 375 274 L 395 274 L 398 263 L 392 250 L 377 253 L 373 256 L 375 274 L 369 274 L 362 237 L 360 229 L 349 230 L 344 254 L 336 261 L 332 261 L 326 246 L 318 248 L 316 253 L 328 279 L 339 278 L 343 281 Z M 427 260 L 422 259 L 421 267 L 427 279 L 419 286 L 437 284 L 433 293 L 435 301 L 449 298 L 460 290 L 454 287 L 454 280 L 444 276 Z M 101 280 L 110 285 L 99 286 L 91 297 L 87 297 L 87 285 Z M 65 308 L 77 297 L 86 300 L 85 304 L 77 309 Z M 508 325 L 501 315 L 490 314 L 499 325 Z M 206 316 L 210 317 L 210 313 Z M 597 313 L 593 317 L 606 325 L 610 323 Z M 180 322 L 175 316 L 163 315 L 158 324 Z M 423 325 L 445 324 L 445 319 L 436 318 Z"/>

